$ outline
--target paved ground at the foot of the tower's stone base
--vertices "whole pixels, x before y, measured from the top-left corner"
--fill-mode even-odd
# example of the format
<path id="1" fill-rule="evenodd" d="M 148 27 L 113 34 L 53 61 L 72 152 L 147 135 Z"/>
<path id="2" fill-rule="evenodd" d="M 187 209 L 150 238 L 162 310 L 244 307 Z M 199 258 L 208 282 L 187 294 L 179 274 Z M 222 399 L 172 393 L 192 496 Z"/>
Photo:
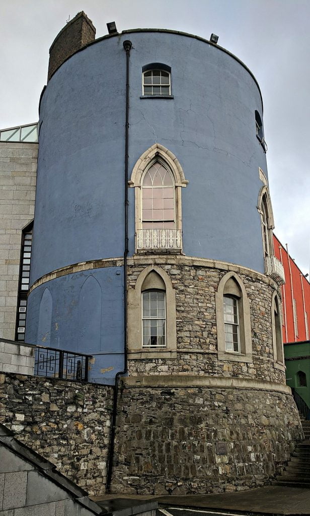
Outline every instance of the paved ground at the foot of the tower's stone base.
<path id="1" fill-rule="evenodd" d="M 111 510 L 122 507 L 134 506 L 144 501 L 157 501 L 160 507 L 168 508 L 191 507 L 196 509 L 213 509 L 215 511 L 228 511 L 266 515 L 297 515 L 308 514 L 310 516 L 310 489 L 267 486 L 237 493 L 220 493 L 206 495 L 182 495 L 182 496 L 138 496 L 138 495 L 106 495 L 91 496 L 95 502 Z M 125 502 L 126 499 L 126 502 Z M 113 510 L 112 509 L 112 510 Z M 176 514 L 175 510 L 172 511 Z M 205 511 L 203 511 L 205 512 Z M 195 516 L 195 513 L 192 513 Z M 197 514 L 197 513 L 196 513 Z M 183 511 L 180 511 L 180 516 Z M 197 514 L 197 516 L 199 516 Z"/>

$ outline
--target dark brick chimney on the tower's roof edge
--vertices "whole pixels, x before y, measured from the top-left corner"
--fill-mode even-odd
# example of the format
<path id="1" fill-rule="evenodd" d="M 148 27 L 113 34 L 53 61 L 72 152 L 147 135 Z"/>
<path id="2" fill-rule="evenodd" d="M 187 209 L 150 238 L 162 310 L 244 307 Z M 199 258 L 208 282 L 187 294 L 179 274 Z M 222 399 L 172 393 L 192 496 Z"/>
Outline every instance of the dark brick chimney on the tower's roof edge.
<path id="1" fill-rule="evenodd" d="M 95 40 L 96 29 L 92 21 L 84 11 L 68 22 L 49 49 L 48 75 L 47 80 L 53 75 L 57 68 L 72 54 L 83 46 Z"/>

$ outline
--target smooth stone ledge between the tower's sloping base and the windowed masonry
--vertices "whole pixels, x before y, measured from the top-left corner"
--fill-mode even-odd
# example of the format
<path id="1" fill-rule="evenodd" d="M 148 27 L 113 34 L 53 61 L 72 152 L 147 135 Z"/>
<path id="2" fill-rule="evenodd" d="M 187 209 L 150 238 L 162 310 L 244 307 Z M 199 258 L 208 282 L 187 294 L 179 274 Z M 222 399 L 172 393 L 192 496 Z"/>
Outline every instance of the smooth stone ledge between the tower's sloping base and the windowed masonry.
<path id="1" fill-rule="evenodd" d="M 194 375 L 150 375 L 122 377 L 124 386 L 128 387 L 206 387 L 210 389 L 251 389 L 259 391 L 274 391 L 291 394 L 291 389 L 284 383 L 276 383 L 252 378 L 226 378 L 218 376 Z"/>

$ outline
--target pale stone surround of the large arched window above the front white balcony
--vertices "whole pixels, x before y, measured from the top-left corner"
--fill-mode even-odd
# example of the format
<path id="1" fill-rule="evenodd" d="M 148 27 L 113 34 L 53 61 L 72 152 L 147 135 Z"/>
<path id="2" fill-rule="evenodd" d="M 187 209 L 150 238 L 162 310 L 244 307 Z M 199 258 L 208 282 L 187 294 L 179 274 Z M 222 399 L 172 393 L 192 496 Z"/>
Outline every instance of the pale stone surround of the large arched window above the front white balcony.
<path id="1" fill-rule="evenodd" d="M 175 181 L 176 196 L 176 229 L 182 231 L 182 204 L 181 187 L 188 184 L 185 179 L 183 169 L 176 158 L 166 147 L 160 143 L 155 143 L 145 151 L 132 169 L 132 174 L 128 185 L 133 187 L 135 194 L 135 230 L 142 229 L 142 178 L 145 170 L 156 160 L 163 161 L 165 166 L 171 171 Z M 135 244 L 135 252 L 137 252 Z"/>

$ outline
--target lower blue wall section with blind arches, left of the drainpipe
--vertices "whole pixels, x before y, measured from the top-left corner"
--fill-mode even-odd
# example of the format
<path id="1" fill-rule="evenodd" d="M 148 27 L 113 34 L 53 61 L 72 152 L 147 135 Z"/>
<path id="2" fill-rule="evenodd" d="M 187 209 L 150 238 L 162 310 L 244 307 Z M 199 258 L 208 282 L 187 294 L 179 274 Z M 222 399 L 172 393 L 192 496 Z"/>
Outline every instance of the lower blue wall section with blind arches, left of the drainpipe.
<path id="1" fill-rule="evenodd" d="M 123 289 L 121 267 L 77 272 L 40 285 L 28 297 L 26 342 L 91 354 L 90 380 L 112 382 L 124 368 Z"/>

